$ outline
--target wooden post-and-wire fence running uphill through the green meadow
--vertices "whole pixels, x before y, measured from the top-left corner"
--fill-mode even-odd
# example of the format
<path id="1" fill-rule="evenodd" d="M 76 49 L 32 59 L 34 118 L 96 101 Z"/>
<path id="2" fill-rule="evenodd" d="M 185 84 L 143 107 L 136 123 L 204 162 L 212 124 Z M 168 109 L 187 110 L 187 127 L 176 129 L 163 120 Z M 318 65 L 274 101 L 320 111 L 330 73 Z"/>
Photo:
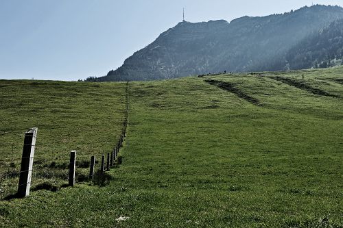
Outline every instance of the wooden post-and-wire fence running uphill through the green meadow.
<path id="1" fill-rule="evenodd" d="M 117 138 L 113 150 L 110 151 L 110 153 L 102 155 L 101 163 L 98 161 L 100 157 L 98 158 L 95 155 L 91 155 L 88 162 L 78 160 L 77 151 L 70 152 L 70 160 L 65 164 L 56 164 L 56 162 L 51 162 L 47 165 L 43 164 L 41 160 L 35 161 L 34 151 L 38 135 L 37 128 L 32 128 L 25 132 L 21 157 L 19 156 L 20 146 L 18 144 L 11 143 L 5 145 L 1 142 L 0 146 L 6 147 L 12 157 L 7 160 L 0 159 L 0 199 L 27 197 L 32 186 L 32 180 L 36 181 L 36 183 L 39 182 L 34 186 L 34 190 L 47 189 L 52 191 L 58 190 L 58 182 L 63 183 L 65 181 L 68 181 L 68 183 L 62 185 L 62 187 L 74 186 L 76 182 L 84 181 L 93 181 L 93 183 L 99 184 L 100 186 L 106 184 L 106 181 L 108 181 L 108 178 L 110 177 L 106 174 L 106 171 L 113 168 L 113 166 L 121 164 L 119 151 L 123 147 L 128 126 L 128 92 L 129 86 L 127 83 L 126 110 L 123 118 L 121 134 L 119 138 Z M 22 136 L 22 134 L 16 134 L 16 137 L 19 135 Z M 17 166 L 17 163 L 19 162 L 21 163 L 20 168 Z M 99 164 L 99 166 L 97 166 L 97 164 Z M 51 180 L 52 183 L 48 183 L 46 180 Z"/>

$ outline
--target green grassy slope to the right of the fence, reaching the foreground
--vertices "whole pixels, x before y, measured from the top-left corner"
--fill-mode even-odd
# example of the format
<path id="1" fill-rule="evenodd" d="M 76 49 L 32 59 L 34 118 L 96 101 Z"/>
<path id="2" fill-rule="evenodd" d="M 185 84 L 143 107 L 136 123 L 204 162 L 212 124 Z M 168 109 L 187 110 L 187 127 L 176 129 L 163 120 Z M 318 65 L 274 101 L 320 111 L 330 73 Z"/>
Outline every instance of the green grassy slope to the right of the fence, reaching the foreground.
<path id="1" fill-rule="evenodd" d="M 300 80 L 303 73 L 307 84 L 342 96 L 342 68 L 279 74 Z M 206 79 L 235 84 L 262 105 Z M 135 82 L 123 164 L 110 186 L 1 202 L 0 224 L 342 226 L 342 110 L 341 98 L 255 75 Z"/>

